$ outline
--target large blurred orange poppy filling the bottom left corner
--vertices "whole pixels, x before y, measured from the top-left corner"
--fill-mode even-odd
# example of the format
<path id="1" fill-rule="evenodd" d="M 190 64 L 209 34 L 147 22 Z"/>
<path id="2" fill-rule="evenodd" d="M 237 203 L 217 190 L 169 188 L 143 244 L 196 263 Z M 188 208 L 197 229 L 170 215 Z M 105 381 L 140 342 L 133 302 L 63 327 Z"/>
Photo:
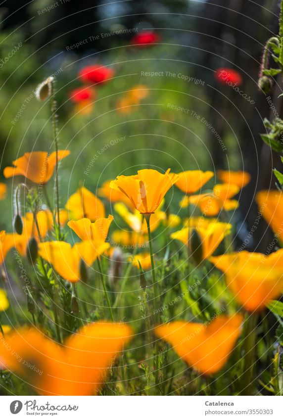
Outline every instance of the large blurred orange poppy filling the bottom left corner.
<path id="1" fill-rule="evenodd" d="M 99 322 L 82 327 L 61 346 L 38 329 L 23 327 L 0 340 L 0 368 L 19 374 L 41 395 L 96 395 L 131 336 L 124 324 Z"/>

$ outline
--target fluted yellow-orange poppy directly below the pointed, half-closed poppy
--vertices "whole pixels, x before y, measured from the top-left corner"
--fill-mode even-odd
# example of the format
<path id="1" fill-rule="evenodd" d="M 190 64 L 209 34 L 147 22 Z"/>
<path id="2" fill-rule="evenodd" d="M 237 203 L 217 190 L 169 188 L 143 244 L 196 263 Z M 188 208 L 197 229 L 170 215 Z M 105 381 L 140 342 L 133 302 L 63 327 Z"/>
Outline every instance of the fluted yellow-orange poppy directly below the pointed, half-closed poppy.
<path id="1" fill-rule="evenodd" d="M 94 223 L 90 219 L 84 218 L 78 221 L 70 220 L 68 226 L 77 233 L 81 240 L 90 240 L 100 246 L 101 242 L 106 240 L 112 220 L 112 215 L 109 215 L 107 219 L 98 217 Z"/>

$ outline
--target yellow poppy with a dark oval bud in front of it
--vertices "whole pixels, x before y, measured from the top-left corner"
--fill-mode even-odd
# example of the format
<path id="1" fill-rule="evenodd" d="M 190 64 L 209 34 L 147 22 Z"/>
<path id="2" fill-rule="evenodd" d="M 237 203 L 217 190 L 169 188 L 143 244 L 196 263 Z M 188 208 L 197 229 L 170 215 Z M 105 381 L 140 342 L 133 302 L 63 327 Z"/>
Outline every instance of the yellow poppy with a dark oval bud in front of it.
<path id="1" fill-rule="evenodd" d="M 172 239 L 178 239 L 188 246 L 189 233 L 195 231 L 199 235 L 201 247 L 201 259 L 209 258 L 225 236 L 231 232 L 230 223 L 218 222 L 216 219 L 204 219 L 203 217 L 191 217 L 189 226 L 171 234 Z M 191 252 L 194 250 L 191 249 Z"/>

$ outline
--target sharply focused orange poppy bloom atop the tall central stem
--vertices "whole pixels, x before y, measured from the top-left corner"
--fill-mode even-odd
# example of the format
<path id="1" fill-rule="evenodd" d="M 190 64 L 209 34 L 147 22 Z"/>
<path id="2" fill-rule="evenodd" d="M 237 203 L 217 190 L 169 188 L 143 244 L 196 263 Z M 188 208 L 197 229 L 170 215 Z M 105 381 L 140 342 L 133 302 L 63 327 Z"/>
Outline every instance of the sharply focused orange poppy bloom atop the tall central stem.
<path id="1" fill-rule="evenodd" d="M 142 169 L 137 175 L 121 175 L 111 181 L 110 188 L 123 192 L 140 213 L 154 213 L 170 187 L 178 180 L 178 175 L 169 175 L 154 169 Z"/>

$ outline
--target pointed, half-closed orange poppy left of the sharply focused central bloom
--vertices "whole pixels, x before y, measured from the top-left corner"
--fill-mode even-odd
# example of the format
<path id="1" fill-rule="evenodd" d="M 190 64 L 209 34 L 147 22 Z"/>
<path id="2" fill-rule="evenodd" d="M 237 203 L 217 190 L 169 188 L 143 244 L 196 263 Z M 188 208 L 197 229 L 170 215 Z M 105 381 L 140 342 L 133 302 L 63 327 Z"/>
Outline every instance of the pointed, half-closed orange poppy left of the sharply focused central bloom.
<path id="1" fill-rule="evenodd" d="M 97 217 L 105 217 L 102 201 L 85 187 L 79 188 L 70 196 L 65 208 L 75 220 L 87 218 L 94 222 Z"/>

